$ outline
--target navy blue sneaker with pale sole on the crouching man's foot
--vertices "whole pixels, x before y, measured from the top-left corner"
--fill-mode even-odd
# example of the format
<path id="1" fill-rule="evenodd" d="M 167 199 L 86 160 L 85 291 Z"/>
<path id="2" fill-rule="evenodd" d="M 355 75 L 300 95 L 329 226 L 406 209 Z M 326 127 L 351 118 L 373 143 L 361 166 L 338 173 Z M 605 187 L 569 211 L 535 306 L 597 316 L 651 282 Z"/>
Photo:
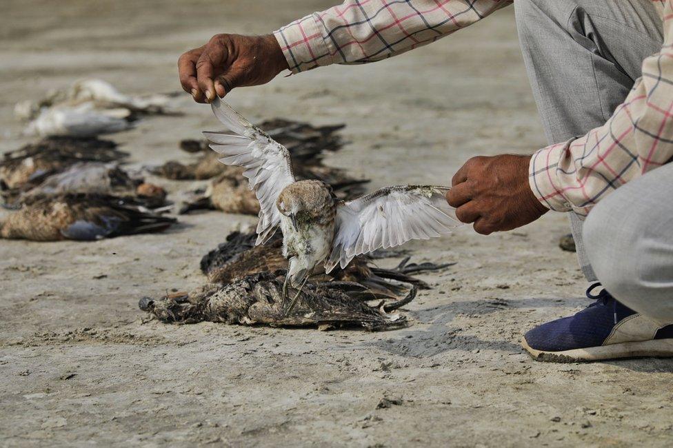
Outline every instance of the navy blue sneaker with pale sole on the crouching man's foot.
<path id="1" fill-rule="evenodd" d="M 661 325 L 625 307 L 605 291 L 574 316 L 552 320 L 530 330 L 521 345 L 539 361 L 576 363 L 615 358 L 673 356 L 673 324 Z"/>

